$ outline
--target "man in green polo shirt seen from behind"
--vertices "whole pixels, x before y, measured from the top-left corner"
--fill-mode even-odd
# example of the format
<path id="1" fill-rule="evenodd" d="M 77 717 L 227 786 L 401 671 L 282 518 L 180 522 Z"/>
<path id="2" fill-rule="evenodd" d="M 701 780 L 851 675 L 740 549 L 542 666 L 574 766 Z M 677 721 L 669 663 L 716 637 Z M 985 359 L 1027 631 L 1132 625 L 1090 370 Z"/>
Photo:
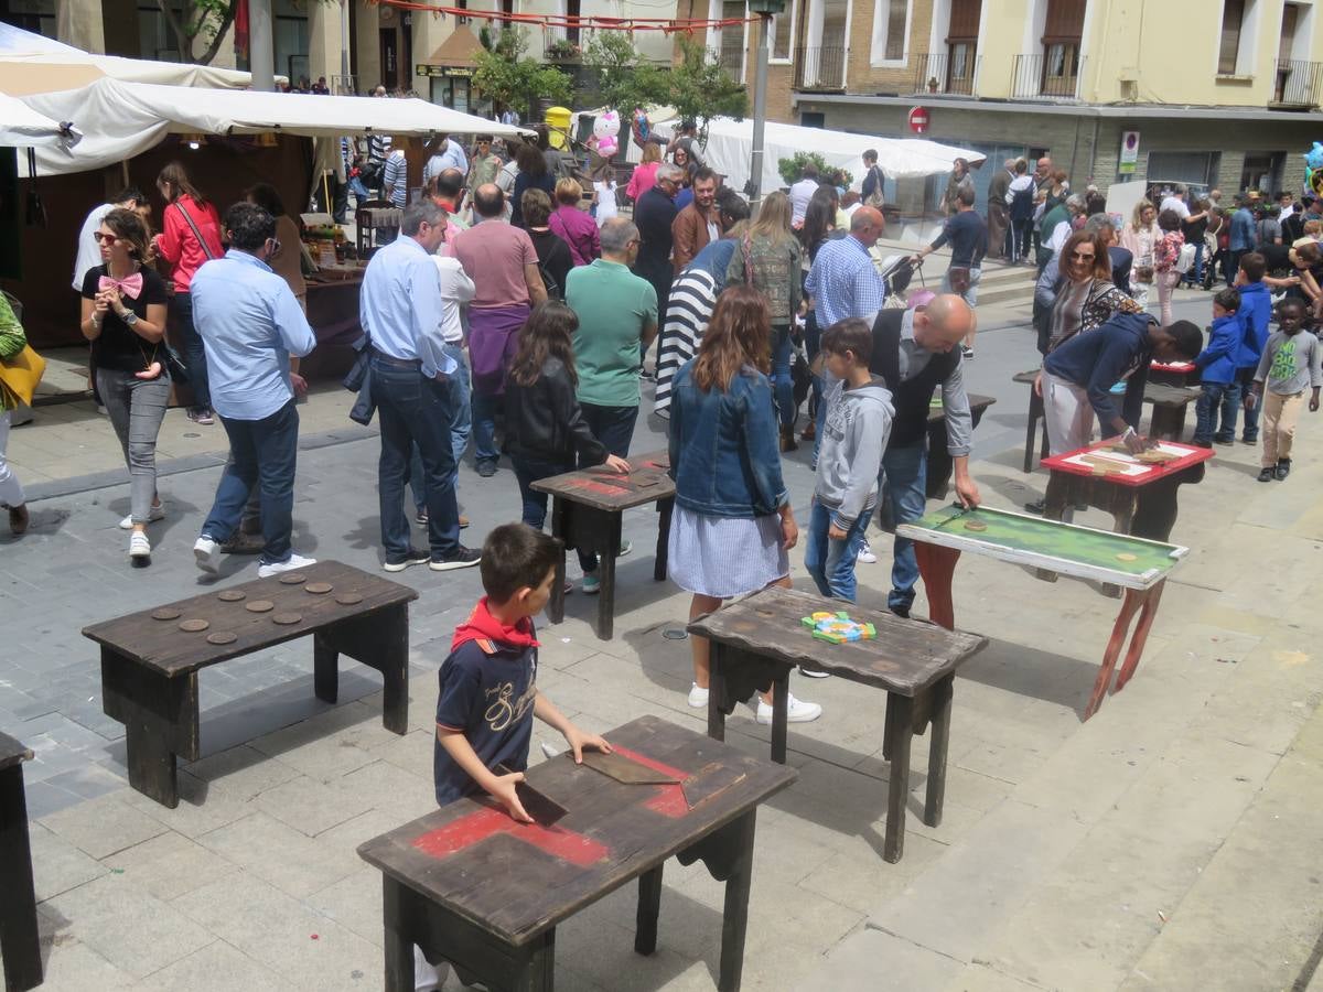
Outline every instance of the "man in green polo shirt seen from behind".
<path id="1" fill-rule="evenodd" d="M 630 271 L 639 254 L 634 224 L 613 217 L 602 225 L 601 242 L 601 258 L 570 270 L 565 302 L 579 320 L 574 364 L 583 419 L 607 451 L 628 458 L 643 353 L 658 331 L 658 295 Z"/>

